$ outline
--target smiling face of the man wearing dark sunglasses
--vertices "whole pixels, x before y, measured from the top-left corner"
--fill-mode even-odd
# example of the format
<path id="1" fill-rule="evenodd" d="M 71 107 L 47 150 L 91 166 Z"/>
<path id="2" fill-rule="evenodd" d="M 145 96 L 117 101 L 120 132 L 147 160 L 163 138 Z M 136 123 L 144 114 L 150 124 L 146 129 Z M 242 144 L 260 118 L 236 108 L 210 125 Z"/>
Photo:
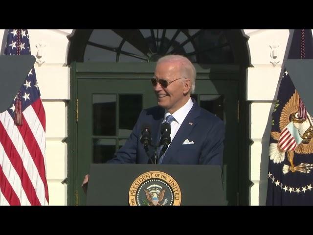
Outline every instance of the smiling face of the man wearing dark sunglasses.
<path id="1" fill-rule="evenodd" d="M 156 66 L 155 78 L 164 79 L 167 82 L 181 78 L 179 64 L 170 62 L 161 62 Z M 189 80 L 189 82 L 187 81 Z M 159 83 L 153 87 L 157 104 L 167 109 L 171 114 L 181 108 L 189 99 L 188 87 L 190 79 L 181 78 L 172 82 L 167 88 L 162 87 Z"/>

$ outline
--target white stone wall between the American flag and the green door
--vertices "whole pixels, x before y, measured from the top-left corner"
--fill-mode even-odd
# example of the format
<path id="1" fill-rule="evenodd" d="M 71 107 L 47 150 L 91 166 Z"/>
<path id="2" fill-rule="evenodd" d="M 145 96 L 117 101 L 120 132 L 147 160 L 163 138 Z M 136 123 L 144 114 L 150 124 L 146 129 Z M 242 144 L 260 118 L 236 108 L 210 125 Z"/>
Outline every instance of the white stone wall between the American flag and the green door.
<path id="1" fill-rule="evenodd" d="M 46 163 L 49 205 L 67 205 L 67 100 L 69 68 L 67 35 L 72 30 L 28 29 L 31 54 L 36 56 L 39 43 L 44 44 L 43 64 L 35 63 L 38 85 L 46 114 Z"/>

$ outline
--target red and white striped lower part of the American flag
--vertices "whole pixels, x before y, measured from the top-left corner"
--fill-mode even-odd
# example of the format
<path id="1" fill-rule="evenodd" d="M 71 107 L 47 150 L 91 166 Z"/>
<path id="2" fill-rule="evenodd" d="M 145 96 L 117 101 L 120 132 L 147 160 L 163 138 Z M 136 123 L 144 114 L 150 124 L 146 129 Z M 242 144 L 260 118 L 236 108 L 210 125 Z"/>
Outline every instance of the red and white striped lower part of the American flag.
<path id="1" fill-rule="evenodd" d="M 22 112 L 22 126 L 8 112 L 0 114 L 0 205 L 48 205 L 42 101 Z"/>

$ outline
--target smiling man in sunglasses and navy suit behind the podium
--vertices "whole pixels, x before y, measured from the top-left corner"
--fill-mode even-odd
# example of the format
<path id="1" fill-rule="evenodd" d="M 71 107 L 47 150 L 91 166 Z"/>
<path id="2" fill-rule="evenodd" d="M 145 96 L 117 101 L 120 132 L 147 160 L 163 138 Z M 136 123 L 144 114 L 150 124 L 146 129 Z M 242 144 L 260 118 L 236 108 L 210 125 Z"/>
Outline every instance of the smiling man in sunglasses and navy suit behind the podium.
<path id="1" fill-rule="evenodd" d="M 222 168 L 224 122 L 191 99 L 195 80 L 196 69 L 186 57 L 167 55 L 160 58 L 151 79 L 158 106 L 140 113 L 128 141 L 107 163 L 151 163 L 140 141 L 142 127 L 144 124 L 151 126 L 152 143 L 156 144 L 160 140 L 162 123 L 168 122 L 172 142 L 157 160 L 158 164 L 211 164 Z M 150 147 L 149 156 L 153 153 L 154 148 Z M 87 182 L 88 175 L 83 185 Z"/>

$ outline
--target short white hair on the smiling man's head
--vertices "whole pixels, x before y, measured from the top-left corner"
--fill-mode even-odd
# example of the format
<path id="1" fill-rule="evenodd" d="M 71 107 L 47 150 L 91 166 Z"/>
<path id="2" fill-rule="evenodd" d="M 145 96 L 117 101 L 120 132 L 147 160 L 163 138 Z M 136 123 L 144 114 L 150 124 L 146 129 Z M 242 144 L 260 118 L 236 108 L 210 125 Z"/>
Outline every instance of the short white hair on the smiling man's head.
<path id="1" fill-rule="evenodd" d="M 190 93 L 193 94 L 195 92 L 195 82 L 196 82 L 196 69 L 194 65 L 188 60 L 186 57 L 182 55 L 165 55 L 158 59 L 156 65 L 162 62 L 179 62 L 181 76 L 185 79 L 189 78 L 191 80 L 191 89 Z"/>

